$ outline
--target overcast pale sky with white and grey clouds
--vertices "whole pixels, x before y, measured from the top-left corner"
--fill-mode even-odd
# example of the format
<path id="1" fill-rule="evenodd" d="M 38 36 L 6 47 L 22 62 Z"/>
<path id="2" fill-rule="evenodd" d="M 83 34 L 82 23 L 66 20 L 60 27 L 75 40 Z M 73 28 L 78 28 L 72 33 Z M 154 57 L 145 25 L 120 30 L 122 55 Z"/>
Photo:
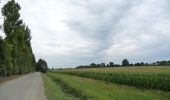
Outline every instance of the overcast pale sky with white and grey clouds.
<path id="1" fill-rule="evenodd" d="M 170 0 L 16 1 L 49 67 L 170 59 Z"/>

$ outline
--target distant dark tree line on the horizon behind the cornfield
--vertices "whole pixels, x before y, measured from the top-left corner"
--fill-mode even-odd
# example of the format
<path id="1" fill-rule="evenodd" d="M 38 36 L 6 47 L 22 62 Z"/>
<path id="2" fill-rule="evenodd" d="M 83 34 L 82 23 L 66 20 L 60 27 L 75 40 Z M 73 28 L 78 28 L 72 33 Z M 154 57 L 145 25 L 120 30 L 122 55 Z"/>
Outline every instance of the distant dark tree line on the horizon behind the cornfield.
<path id="1" fill-rule="evenodd" d="M 126 67 L 126 66 L 170 66 L 169 61 L 157 61 L 153 63 L 144 63 L 144 62 L 137 62 L 137 63 L 129 63 L 127 59 L 122 60 L 122 64 L 115 64 L 114 62 L 109 62 L 108 64 L 105 63 L 91 63 L 89 65 L 79 65 L 76 68 L 102 68 L 102 67 Z"/>

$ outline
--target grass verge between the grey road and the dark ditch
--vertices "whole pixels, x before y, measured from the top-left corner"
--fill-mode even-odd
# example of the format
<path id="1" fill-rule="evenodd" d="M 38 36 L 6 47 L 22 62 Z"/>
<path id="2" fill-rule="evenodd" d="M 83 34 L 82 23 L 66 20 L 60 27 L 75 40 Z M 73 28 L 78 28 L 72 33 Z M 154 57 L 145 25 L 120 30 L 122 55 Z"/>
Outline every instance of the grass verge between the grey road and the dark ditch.
<path id="1" fill-rule="evenodd" d="M 73 96 L 65 94 L 60 85 L 55 83 L 50 77 L 42 74 L 45 94 L 48 100 L 76 100 Z"/>

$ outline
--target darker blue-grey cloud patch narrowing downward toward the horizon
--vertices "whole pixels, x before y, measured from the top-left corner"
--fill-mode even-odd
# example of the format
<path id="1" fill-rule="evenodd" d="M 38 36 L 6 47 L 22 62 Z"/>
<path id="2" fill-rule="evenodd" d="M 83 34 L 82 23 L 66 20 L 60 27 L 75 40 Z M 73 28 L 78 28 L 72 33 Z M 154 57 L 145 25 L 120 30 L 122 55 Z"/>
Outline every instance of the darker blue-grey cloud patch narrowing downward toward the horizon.
<path id="1" fill-rule="evenodd" d="M 117 24 L 135 3 L 129 1 L 92 0 L 90 2 L 78 1 L 78 3 L 74 1 L 75 8 L 81 6 L 81 11 L 84 11 L 85 15 L 80 16 L 81 18 L 69 19 L 66 24 L 80 36 L 97 41 L 98 46 L 94 48 L 94 55 L 102 60 L 105 49 L 113 43 L 111 37 L 116 34 L 114 30 Z"/>

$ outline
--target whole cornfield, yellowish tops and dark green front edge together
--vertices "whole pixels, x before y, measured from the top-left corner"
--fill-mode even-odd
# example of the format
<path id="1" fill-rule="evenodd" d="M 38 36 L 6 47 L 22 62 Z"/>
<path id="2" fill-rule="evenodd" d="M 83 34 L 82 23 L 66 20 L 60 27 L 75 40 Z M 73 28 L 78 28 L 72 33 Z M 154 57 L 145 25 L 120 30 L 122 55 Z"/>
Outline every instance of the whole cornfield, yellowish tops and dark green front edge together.
<path id="1" fill-rule="evenodd" d="M 56 72 L 138 88 L 170 91 L 170 67 L 88 68 Z"/>

